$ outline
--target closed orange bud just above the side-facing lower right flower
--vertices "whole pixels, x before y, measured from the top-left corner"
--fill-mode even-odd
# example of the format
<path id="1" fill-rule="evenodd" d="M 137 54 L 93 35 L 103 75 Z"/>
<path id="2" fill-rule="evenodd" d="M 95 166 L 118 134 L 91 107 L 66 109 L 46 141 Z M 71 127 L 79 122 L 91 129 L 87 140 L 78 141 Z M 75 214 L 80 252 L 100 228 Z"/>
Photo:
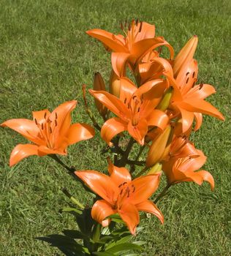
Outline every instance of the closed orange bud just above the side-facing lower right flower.
<path id="1" fill-rule="evenodd" d="M 162 134 L 159 135 L 159 137 L 156 140 L 154 140 L 153 143 L 151 144 L 151 147 L 148 151 L 148 157 L 146 159 L 147 167 L 152 167 L 156 164 L 156 162 L 162 160 L 162 156 L 167 146 L 170 132 L 171 127 L 169 125 L 164 129 L 164 132 L 162 132 Z"/>

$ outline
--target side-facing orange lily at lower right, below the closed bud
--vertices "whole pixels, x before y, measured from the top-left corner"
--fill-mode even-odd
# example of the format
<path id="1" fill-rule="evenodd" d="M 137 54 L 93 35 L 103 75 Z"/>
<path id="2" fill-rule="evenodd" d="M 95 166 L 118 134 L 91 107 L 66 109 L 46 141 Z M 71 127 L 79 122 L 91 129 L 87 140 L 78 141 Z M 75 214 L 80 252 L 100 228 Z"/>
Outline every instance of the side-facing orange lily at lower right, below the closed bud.
<path id="1" fill-rule="evenodd" d="M 167 162 L 162 164 L 162 170 L 167 176 L 167 183 L 170 185 L 183 181 L 194 181 L 201 185 L 203 181 L 208 181 L 211 189 L 214 189 L 214 179 L 211 173 L 200 169 L 206 162 L 206 157 L 200 150 L 196 150 L 196 155 L 188 155 L 187 157 L 170 157 Z"/>

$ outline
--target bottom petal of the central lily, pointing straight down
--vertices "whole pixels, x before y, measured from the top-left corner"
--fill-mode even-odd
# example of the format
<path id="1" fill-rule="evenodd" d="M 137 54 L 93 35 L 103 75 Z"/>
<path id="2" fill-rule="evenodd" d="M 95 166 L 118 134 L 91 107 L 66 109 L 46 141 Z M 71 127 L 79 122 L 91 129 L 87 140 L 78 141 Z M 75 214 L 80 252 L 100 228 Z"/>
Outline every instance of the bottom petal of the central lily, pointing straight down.
<path id="1" fill-rule="evenodd" d="M 148 132 L 148 123 L 145 119 L 141 119 L 137 125 L 132 125 L 132 121 L 129 121 L 127 130 L 129 132 L 129 135 L 131 135 L 135 140 L 137 140 L 137 143 L 143 145 L 145 135 Z"/>

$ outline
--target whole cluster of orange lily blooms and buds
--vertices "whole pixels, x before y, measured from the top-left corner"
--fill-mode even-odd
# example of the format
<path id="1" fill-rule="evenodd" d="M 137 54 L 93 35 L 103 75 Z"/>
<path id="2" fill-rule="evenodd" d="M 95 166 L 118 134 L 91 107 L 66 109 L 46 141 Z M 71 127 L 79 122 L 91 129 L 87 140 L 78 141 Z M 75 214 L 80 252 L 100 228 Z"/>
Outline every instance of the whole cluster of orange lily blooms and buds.
<path id="1" fill-rule="evenodd" d="M 114 164 L 108 159 L 110 176 L 96 170 L 74 173 L 102 198 L 94 203 L 91 217 L 105 227 L 110 225 L 110 216 L 118 214 L 135 234 L 140 222 L 139 211 L 164 221 L 155 205 L 164 193 L 156 200 L 150 199 L 159 187 L 162 172 L 167 178 L 164 192 L 183 181 L 199 185 L 208 181 L 213 189 L 211 173 L 199 170 L 206 157 L 195 148 L 189 136 L 200 129 L 202 114 L 221 120 L 224 116 L 205 101 L 216 92 L 213 86 L 197 84 L 198 67 L 194 59 L 197 36 L 189 39 L 174 58 L 173 47 L 163 37 L 156 37 L 154 25 L 132 20 L 129 24 L 121 23 L 121 29 L 124 35 L 102 29 L 87 31 L 111 53 L 108 91 L 99 72 L 94 77 L 94 89 L 89 90 L 103 118 L 102 127 L 97 124 L 99 118 L 96 121 L 92 116 L 87 102 L 86 109 L 107 147 L 113 148 L 112 153 L 116 151 Z M 169 51 L 168 58 L 162 54 L 163 47 Z M 14 129 L 32 142 L 13 149 L 10 165 L 31 155 L 65 155 L 67 146 L 94 137 L 95 130 L 88 124 L 71 124 L 71 112 L 76 104 L 72 100 L 59 105 L 52 113 L 49 110 L 33 112 L 33 120 L 4 121 L 2 127 Z M 128 141 L 125 149 L 121 140 Z M 131 160 L 129 155 L 135 143 L 140 145 L 140 151 Z M 144 161 L 140 161 L 142 157 Z M 126 165 L 131 167 L 130 171 Z M 135 165 L 144 168 L 136 173 Z"/>

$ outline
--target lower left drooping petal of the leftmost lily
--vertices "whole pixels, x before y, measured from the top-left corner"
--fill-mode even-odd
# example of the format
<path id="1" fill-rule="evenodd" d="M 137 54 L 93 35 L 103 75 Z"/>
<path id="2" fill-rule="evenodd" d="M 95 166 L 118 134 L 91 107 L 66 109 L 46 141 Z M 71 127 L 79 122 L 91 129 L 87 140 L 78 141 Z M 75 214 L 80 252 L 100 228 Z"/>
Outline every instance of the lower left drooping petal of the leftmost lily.
<path id="1" fill-rule="evenodd" d="M 18 144 L 10 154 L 10 166 L 18 164 L 20 160 L 38 155 L 38 146 L 31 144 Z"/>

